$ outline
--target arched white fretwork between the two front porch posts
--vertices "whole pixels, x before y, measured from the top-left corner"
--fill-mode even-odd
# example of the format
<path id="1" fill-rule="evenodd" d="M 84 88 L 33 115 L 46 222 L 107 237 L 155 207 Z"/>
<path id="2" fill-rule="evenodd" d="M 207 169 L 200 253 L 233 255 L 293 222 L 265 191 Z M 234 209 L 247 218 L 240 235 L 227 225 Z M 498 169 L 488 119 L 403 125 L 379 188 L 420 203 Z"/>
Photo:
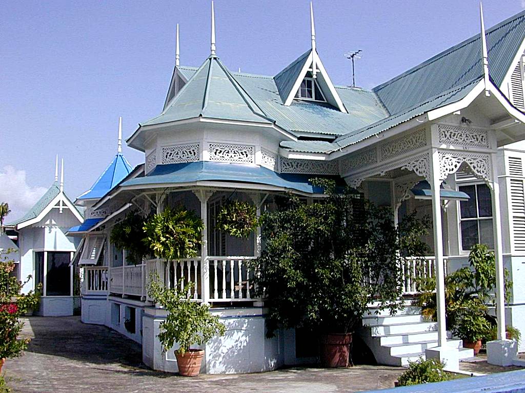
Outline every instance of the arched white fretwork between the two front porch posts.
<path id="1" fill-rule="evenodd" d="M 438 154 L 440 180 L 445 180 L 450 173 L 457 172 L 463 162 L 468 163 L 472 174 L 477 178 L 492 180 L 489 154 L 450 150 L 439 151 Z"/>

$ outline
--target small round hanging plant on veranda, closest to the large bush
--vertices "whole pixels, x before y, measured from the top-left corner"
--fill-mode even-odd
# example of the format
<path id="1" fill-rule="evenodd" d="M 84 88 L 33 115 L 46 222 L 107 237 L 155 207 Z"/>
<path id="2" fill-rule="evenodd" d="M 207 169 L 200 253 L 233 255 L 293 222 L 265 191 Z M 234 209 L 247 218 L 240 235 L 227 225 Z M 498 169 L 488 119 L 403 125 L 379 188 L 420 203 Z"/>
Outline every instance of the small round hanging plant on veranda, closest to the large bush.
<path id="1" fill-rule="evenodd" d="M 249 202 L 227 201 L 217 215 L 217 228 L 235 237 L 248 237 L 257 225 L 257 210 Z"/>

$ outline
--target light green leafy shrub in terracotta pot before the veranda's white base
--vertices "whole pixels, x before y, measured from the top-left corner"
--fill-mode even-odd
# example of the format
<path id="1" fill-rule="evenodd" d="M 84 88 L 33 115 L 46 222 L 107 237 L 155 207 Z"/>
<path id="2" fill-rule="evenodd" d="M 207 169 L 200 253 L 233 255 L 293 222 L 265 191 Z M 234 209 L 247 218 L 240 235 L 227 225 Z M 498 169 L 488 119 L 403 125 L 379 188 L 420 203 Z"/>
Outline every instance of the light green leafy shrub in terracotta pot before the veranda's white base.
<path id="1" fill-rule="evenodd" d="M 150 296 L 167 311 L 158 335 L 163 351 L 169 351 L 177 343 L 179 347 L 175 350 L 175 357 L 178 372 L 186 377 L 197 376 L 204 351 L 192 348 L 192 345 L 201 346 L 213 336 L 223 335 L 225 326 L 219 322 L 218 316 L 209 312 L 207 304 L 192 301 L 187 290 L 178 290 L 180 283 L 173 289 L 167 289 L 158 279 L 150 280 Z"/>

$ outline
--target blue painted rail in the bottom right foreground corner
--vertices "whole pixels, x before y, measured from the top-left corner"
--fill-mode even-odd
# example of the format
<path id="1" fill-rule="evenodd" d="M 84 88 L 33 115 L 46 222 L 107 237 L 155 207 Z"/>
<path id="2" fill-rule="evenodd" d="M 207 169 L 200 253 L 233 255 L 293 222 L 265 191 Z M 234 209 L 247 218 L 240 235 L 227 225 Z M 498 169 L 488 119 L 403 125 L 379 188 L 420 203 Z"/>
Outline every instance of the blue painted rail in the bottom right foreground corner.
<path id="1" fill-rule="evenodd" d="M 480 377 L 459 378 L 432 384 L 368 390 L 368 393 L 522 393 L 525 392 L 525 370 L 507 371 Z"/>

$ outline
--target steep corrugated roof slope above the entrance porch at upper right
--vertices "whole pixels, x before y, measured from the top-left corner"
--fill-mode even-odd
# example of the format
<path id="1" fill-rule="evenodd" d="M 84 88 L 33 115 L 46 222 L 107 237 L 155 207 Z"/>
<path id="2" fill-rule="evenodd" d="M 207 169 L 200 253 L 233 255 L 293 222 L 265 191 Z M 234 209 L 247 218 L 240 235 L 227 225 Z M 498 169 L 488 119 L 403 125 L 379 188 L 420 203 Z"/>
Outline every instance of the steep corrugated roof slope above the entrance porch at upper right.
<path id="1" fill-rule="evenodd" d="M 480 37 L 458 43 L 373 91 L 388 112 L 395 114 L 477 79 L 483 74 Z M 525 38 L 525 11 L 486 30 L 486 37 L 489 74 L 500 87 Z"/>

